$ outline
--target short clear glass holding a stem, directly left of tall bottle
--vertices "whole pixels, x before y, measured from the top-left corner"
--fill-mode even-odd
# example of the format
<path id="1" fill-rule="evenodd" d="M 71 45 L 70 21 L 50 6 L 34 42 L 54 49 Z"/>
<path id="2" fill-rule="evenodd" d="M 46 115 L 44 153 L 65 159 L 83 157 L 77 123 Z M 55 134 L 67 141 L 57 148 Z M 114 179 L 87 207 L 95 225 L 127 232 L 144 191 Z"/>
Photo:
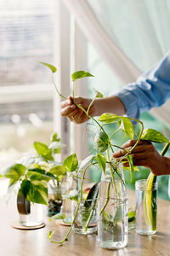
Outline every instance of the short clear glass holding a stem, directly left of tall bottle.
<path id="1" fill-rule="evenodd" d="M 81 201 L 77 211 L 77 201 L 71 202 L 72 220 L 77 212 L 77 217 L 73 224 L 73 230 L 77 234 L 89 235 L 97 231 L 97 210 L 96 200 Z"/>

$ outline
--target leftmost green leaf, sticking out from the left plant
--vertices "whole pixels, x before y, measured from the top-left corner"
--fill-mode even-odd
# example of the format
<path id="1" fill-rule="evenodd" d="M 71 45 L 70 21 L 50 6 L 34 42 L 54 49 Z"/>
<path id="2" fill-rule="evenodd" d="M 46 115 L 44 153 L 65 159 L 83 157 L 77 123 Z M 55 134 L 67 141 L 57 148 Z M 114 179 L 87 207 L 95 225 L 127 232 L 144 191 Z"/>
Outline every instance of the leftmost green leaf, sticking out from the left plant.
<path id="1" fill-rule="evenodd" d="M 14 166 L 8 167 L 4 172 L 3 176 L 11 178 L 14 181 L 18 181 L 26 172 L 26 166 L 22 164 L 15 164 Z"/>

